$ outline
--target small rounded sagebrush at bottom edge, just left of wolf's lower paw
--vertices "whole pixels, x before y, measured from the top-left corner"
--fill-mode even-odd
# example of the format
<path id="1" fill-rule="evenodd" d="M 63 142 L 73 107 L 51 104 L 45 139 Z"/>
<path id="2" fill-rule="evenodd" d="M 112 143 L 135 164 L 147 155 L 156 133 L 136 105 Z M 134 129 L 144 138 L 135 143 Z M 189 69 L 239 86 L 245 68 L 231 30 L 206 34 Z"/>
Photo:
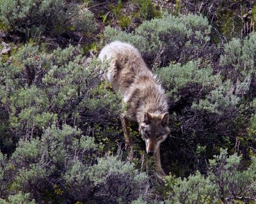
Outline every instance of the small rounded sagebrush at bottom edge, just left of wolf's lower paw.
<path id="1" fill-rule="evenodd" d="M 117 200 L 127 203 L 147 189 L 146 174 L 134 171 L 133 164 L 118 161 L 116 157 L 99 159 L 88 169 L 88 177 L 97 186 L 96 194 L 101 203 L 115 203 Z"/>

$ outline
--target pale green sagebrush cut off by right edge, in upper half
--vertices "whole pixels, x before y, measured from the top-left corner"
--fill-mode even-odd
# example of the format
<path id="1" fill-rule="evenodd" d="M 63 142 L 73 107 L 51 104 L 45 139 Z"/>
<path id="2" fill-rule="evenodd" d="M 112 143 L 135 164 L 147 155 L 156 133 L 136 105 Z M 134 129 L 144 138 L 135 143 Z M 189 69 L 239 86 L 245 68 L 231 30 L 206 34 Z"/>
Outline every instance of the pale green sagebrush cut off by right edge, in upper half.
<path id="1" fill-rule="evenodd" d="M 240 96 L 255 94 L 255 56 L 256 34 L 248 35 L 244 40 L 234 38 L 225 44 L 225 53 L 221 56 L 221 65 L 227 72 L 223 73 L 237 84 L 236 92 Z"/>

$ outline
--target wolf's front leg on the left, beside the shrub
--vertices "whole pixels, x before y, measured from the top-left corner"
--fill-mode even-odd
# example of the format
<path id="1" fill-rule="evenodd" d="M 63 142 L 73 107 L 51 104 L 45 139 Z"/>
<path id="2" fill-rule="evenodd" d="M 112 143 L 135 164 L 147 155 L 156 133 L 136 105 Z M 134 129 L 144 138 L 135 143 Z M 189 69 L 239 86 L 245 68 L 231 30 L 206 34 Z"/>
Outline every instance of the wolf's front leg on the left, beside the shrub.
<path id="1" fill-rule="evenodd" d="M 125 149 L 128 150 L 128 160 L 131 161 L 133 158 L 133 150 L 132 150 L 132 138 L 130 136 L 130 130 L 129 130 L 129 121 L 127 117 L 124 115 L 124 113 L 121 115 L 121 122 L 123 126 L 124 131 L 124 138 L 125 138 Z"/>

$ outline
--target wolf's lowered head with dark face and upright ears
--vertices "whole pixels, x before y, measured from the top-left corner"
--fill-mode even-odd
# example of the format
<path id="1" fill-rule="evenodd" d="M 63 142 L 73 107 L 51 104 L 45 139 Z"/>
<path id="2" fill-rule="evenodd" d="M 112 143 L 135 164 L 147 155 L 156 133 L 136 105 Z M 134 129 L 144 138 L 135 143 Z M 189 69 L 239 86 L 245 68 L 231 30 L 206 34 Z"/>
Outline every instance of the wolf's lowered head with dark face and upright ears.
<path id="1" fill-rule="evenodd" d="M 169 114 L 163 113 L 155 115 L 144 113 L 144 121 L 140 124 L 140 133 L 146 143 L 147 153 L 153 155 L 158 149 L 160 143 L 164 142 L 170 133 L 168 128 Z"/>

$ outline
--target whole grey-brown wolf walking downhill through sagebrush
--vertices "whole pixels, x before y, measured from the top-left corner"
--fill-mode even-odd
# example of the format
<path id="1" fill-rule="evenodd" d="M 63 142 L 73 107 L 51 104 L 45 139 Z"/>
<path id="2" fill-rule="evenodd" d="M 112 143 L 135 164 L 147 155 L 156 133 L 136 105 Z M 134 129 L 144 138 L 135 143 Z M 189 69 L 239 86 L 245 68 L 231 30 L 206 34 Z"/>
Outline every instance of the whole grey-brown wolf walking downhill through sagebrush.
<path id="1" fill-rule="evenodd" d="M 155 157 L 157 173 L 165 175 L 159 148 L 170 133 L 168 100 L 164 89 L 137 48 L 129 43 L 109 43 L 100 51 L 99 59 L 109 62 L 105 78 L 115 92 L 124 96 L 127 104 L 127 110 L 121 115 L 125 147 L 132 145 L 129 122 L 137 122 L 147 153 Z"/>

